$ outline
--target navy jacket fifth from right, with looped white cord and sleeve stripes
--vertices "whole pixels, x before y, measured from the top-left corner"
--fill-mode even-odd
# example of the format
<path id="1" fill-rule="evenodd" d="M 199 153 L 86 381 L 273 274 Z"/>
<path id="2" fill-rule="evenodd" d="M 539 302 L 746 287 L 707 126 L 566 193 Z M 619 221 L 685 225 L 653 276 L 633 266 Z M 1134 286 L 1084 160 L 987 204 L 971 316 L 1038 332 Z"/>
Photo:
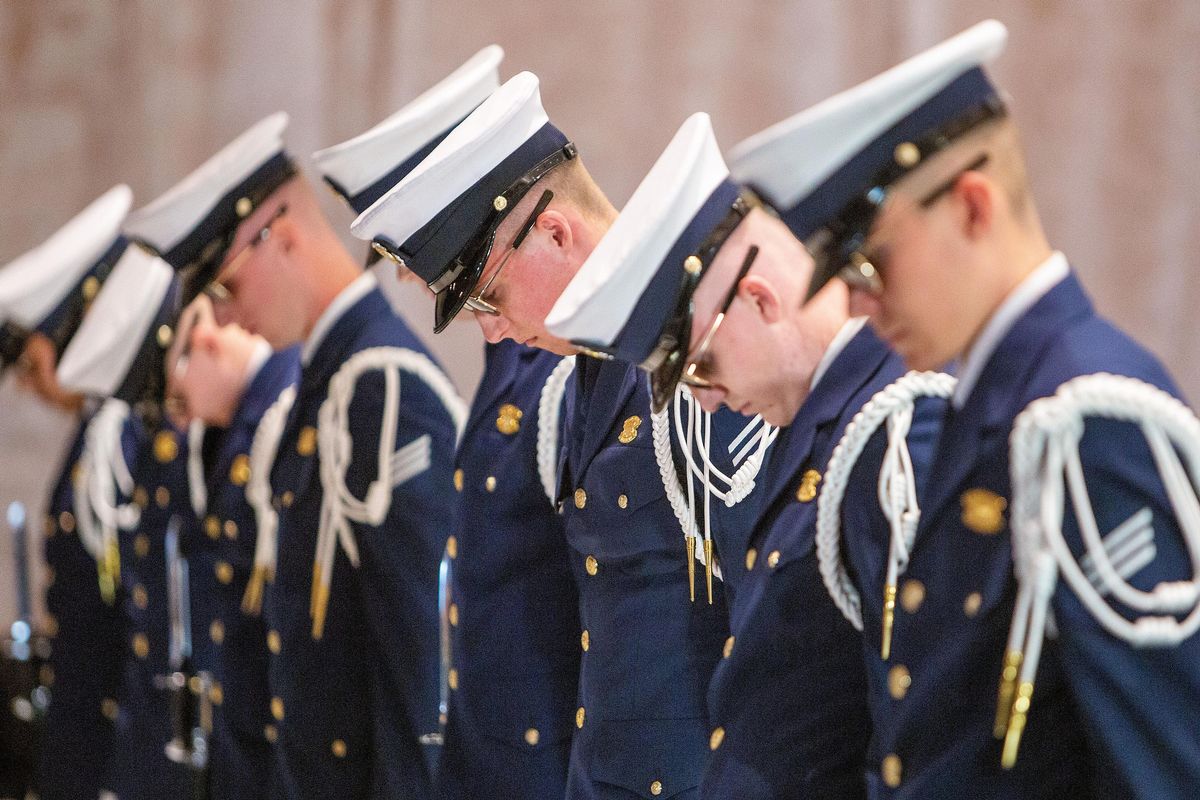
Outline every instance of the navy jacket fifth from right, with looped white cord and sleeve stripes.
<path id="1" fill-rule="evenodd" d="M 280 510 L 278 563 L 264 610 L 281 651 L 271 660 L 269 738 L 277 738 L 272 796 L 427 798 L 419 738 L 437 730 L 438 565 L 456 529 L 455 425 L 420 379 L 401 375 L 396 446 L 431 438 L 424 473 L 391 493 L 383 524 L 352 523 L 355 570 L 336 549 L 323 636 L 310 614 L 323 488 L 318 410 L 329 381 L 355 353 L 401 347 L 426 353 L 378 288 L 354 303 L 301 367 L 271 471 Z M 354 449 L 347 488 L 362 498 L 376 476 L 384 383 L 368 372 L 349 409 Z"/>

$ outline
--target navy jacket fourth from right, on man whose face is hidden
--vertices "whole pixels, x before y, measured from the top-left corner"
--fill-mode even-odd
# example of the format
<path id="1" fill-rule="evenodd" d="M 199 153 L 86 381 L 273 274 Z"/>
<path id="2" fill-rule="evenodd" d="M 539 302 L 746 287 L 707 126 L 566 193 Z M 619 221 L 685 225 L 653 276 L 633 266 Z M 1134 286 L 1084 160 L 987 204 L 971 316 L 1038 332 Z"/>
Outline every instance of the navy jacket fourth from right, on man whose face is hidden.
<path id="1" fill-rule="evenodd" d="M 458 447 L 462 518 L 448 547 L 454 672 L 438 774 L 445 800 L 565 793 L 578 593 L 563 521 L 538 473 L 539 401 L 560 361 L 511 341 L 488 344 Z"/>

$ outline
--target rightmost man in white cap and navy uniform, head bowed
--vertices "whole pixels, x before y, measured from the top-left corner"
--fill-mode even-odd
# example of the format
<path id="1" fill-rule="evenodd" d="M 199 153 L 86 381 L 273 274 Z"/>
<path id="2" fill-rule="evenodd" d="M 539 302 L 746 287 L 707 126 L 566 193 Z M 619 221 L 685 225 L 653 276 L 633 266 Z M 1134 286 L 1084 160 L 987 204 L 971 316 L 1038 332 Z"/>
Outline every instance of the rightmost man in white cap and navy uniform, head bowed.
<path id="1" fill-rule="evenodd" d="M 1080 423 L 1096 541 L 1084 543 L 1078 503 L 1045 513 L 1061 547 L 1018 573 L 1036 585 L 1018 593 L 1014 579 L 1014 540 L 1028 547 L 1010 517 L 1014 419 L 1091 373 L 1177 390 L 1048 241 L 1016 122 L 983 68 L 1006 38 L 982 23 L 779 131 L 811 192 L 802 207 L 820 218 L 810 294 L 841 276 L 851 307 L 910 366 L 959 362 L 906 573 L 923 602 L 898 614 L 892 643 L 911 681 L 876 716 L 871 790 L 1184 798 L 1200 784 L 1200 637 L 1181 626 L 1200 531 L 1183 511 L 1177 522 L 1186 503 L 1174 489 L 1168 500 L 1136 426 Z M 1109 573 L 1094 573 L 1098 559 Z M 1066 579 L 1076 560 L 1092 579 Z"/>

